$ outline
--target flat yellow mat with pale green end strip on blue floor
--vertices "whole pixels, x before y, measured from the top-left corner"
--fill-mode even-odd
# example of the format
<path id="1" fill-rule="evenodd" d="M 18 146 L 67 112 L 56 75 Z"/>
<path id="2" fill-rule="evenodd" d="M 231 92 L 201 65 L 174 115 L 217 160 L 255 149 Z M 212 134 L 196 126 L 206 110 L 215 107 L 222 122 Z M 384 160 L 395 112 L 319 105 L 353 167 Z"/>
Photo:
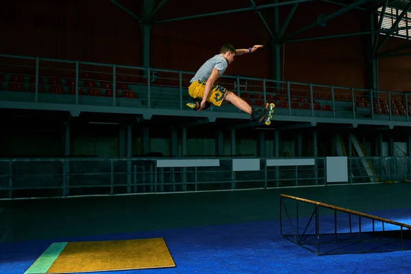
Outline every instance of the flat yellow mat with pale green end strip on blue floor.
<path id="1" fill-rule="evenodd" d="M 67 242 L 58 252 L 48 266 L 36 268 L 42 273 L 81 273 L 175 266 L 163 238 Z"/>

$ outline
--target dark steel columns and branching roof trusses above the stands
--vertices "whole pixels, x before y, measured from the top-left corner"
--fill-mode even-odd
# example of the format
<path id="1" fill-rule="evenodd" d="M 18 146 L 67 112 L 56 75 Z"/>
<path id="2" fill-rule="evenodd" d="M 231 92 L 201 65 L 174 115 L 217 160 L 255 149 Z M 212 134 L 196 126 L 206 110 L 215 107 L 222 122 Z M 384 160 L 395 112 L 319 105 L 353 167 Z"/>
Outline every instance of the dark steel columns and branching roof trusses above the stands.
<path id="1" fill-rule="evenodd" d="M 210 17 L 210 16 L 220 16 L 223 14 L 233 14 L 233 13 L 239 13 L 239 12 L 255 12 L 257 16 L 260 18 L 262 23 L 264 24 L 264 27 L 266 31 L 269 33 L 269 36 L 271 37 L 271 51 L 273 55 L 273 79 L 275 80 L 280 80 L 277 79 L 280 77 L 281 73 L 280 71 L 280 49 L 281 47 L 288 42 L 303 42 L 303 41 L 310 41 L 310 40 L 323 40 L 323 39 L 330 39 L 330 38 L 343 38 L 343 37 L 348 37 L 348 36 L 369 36 L 369 46 L 367 46 L 367 52 L 366 55 L 369 57 L 368 62 L 369 66 L 367 66 L 367 73 L 369 75 L 369 78 L 371 79 L 370 83 L 370 88 L 372 89 L 378 89 L 378 81 L 377 81 L 377 60 L 378 58 L 387 58 L 387 57 L 393 57 L 393 56 L 399 56 L 399 55 L 410 55 L 410 53 L 395 53 L 397 51 L 401 51 L 402 49 L 408 49 L 411 47 L 411 43 L 409 45 L 404 45 L 401 47 L 397 47 L 396 49 L 390 49 L 388 51 L 382 51 L 379 52 L 388 38 L 390 37 L 390 34 L 393 34 L 393 32 L 397 32 L 402 29 L 411 29 L 411 26 L 406 26 L 406 27 L 399 27 L 399 22 L 402 20 L 403 16 L 408 12 L 408 10 L 411 8 L 411 1 L 410 0 L 351 0 L 347 1 L 345 3 L 338 2 L 338 1 L 330 1 L 330 0 L 319 0 L 320 2 L 323 3 L 332 3 L 334 5 L 340 5 L 342 8 L 339 10 L 336 10 L 336 12 L 332 12 L 331 14 L 319 14 L 316 18 L 316 20 L 309 25 L 306 25 L 304 27 L 301 27 L 301 29 L 298 29 L 295 32 L 291 32 L 289 34 L 286 34 L 286 27 L 292 20 L 292 16 L 294 15 L 295 11 L 297 10 L 299 3 L 309 3 L 309 2 L 314 2 L 314 0 L 288 0 L 288 1 L 279 1 L 279 0 L 271 0 L 271 3 L 264 4 L 264 5 L 257 5 L 254 0 L 249 0 L 249 7 L 245 8 L 236 8 L 232 10 L 223 10 L 223 11 L 218 11 L 218 12 L 210 12 L 206 14 L 195 14 L 195 15 L 189 15 L 189 16 L 182 16 L 182 17 L 176 17 L 176 18 L 166 18 L 166 19 L 159 19 L 156 20 L 155 15 L 158 14 L 158 12 L 164 8 L 164 6 L 169 2 L 169 0 L 162 0 L 156 7 L 154 7 L 155 1 L 150 1 L 150 0 L 143 0 L 142 1 L 142 14 L 140 16 L 134 14 L 133 12 L 127 10 L 123 5 L 121 5 L 119 2 L 116 0 L 110 0 L 110 2 L 114 3 L 117 5 L 119 8 L 136 18 L 138 24 L 140 25 L 140 29 L 142 32 L 142 60 L 143 60 L 143 66 L 149 67 L 150 66 L 150 53 L 149 53 L 149 48 L 150 48 L 150 34 L 151 34 L 151 29 L 155 25 L 160 25 L 163 23 L 172 23 L 172 22 L 177 22 L 177 21 L 186 21 L 190 19 L 195 19 L 195 18 L 205 18 L 205 17 Z M 313 3 L 314 4 L 314 3 Z M 315 3 L 318 5 L 318 3 Z M 278 14 L 279 14 L 279 7 L 284 6 L 284 5 L 291 5 L 291 9 L 288 12 L 288 15 L 286 16 L 286 19 L 284 23 L 280 26 L 279 21 L 278 21 Z M 382 16 L 379 21 L 377 21 L 376 14 L 377 14 L 377 9 L 379 7 L 382 8 Z M 384 12 L 387 7 L 395 7 L 395 8 L 403 8 L 403 12 L 401 13 L 400 16 L 397 17 L 397 21 L 393 24 L 390 29 L 382 29 L 382 20 L 384 17 Z M 273 8 L 275 9 L 275 22 L 273 23 L 273 26 L 269 25 L 269 23 L 266 21 L 260 10 L 264 9 L 269 9 Z M 370 24 L 369 24 L 369 30 L 364 31 L 364 32 L 352 32 L 352 33 L 345 33 L 345 34 L 334 34 L 331 36 L 314 36 L 314 37 L 306 37 L 306 38 L 293 38 L 294 36 L 298 36 L 299 34 L 302 34 L 303 32 L 306 32 L 308 29 L 312 29 L 313 27 L 321 26 L 325 27 L 327 25 L 327 22 L 329 20 L 332 20 L 333 18 L 336 18 L 337 16 L 340 16 L 342 14 L 345 14 L 346 12 L 349 12 L 350 10 L 363 10 L 364 12 L 367 12 L 370 16 Z M 386 34 L 384 38 L 382 38 L 382 41 L 379 42 L 379 34 Z M 293 39 L 291 39 L 293 38 Z"/>

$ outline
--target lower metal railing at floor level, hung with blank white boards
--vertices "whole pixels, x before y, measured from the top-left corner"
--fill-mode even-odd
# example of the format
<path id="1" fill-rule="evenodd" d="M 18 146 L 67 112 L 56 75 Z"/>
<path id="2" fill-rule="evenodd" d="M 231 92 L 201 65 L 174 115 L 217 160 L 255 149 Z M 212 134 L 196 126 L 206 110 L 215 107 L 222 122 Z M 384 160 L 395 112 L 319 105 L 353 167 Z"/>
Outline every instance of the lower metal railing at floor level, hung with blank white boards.
<path id="1" fill-rule="evenodd" d="M 233 171 L 232 158 L 214 159 L 220 160 L 220 166 L 164 168 L 158 167 L 155 159 L 142 158 L 0 160 L 0 199 L 245 190 L 329 184 L 326 158 L 314 158 L 313 166 L 266 166 L 268 158 L 261 158 L 259 171 Z M 407 157 L 348 158 L 349 182 L 339 184 L 405 180 L 410 175 L 410 166 L 411 158 Z"/>

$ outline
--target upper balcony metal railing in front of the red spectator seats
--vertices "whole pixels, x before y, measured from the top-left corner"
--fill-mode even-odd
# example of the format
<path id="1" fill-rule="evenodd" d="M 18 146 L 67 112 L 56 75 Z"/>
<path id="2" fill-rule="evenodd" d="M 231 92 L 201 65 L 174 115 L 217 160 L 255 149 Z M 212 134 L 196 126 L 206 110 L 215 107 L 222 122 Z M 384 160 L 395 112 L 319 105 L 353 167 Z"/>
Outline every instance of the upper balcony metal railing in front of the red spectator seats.
<path id="1" fill-rule="evenodd" d="M 175 110 L 185 109 L 190 101 L 187 88 L 195 74 L 16 55 L 0 55 L 0 68 L 0 90 L 8 92 L 1 100 Z M 411 109 L 407 92 L 233 75 L 219 78 L 218 84 L 251 105 L 275 101 L 280 115 L 408 122 Z M 234 107 L 212 111 L 238 112 Z"/>

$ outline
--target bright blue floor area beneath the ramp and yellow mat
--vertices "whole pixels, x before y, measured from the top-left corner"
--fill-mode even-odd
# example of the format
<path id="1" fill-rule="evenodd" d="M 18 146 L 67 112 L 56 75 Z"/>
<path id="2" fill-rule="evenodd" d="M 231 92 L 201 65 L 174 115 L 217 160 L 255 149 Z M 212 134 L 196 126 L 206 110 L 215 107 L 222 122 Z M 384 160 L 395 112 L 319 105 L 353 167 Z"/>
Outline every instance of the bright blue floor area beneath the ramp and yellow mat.
<path id="1" fill-rule="evenodd" d="M 410 209 L 369 212 L 411 223 Z M 347 231 L 347 215 L 339 215 Z M 301 219 L 302 220 L 302 219 Z M 305 218 L 305 220 L 307 220 Z M 334 229 L 334 215 L 321 219 L 321 232 Z M 354 218 L 353 218 L 354 220 Z M 358 220 L 358 219 L 357 219 Z M 357 222 L 358 223 L 358 222 Z M 353 221 L 353 226 L 356 224 Z M 300 227 L 305 225 L 301 221 Z M 369 229 L 368 225 L 364 229 Z M 376 228 L 381 228 L 376 226 Z M 300 228 L 301 229 L 301 228 Z M 339 229 L 339 231 L 341 231 Z M 386 229 L 393 229 L 386 227 Z M 171 269 L 109 273 L 411 273 L 411 251 L 316 256 L 279 235 L 279 221 L 258 221 L 132 234 L 88 236 L 0 245 L 0 274 L 24 273 L 51 242 L 163 237 L 175 264 Z"/>

